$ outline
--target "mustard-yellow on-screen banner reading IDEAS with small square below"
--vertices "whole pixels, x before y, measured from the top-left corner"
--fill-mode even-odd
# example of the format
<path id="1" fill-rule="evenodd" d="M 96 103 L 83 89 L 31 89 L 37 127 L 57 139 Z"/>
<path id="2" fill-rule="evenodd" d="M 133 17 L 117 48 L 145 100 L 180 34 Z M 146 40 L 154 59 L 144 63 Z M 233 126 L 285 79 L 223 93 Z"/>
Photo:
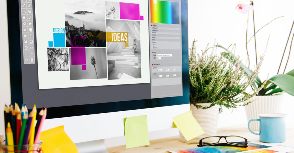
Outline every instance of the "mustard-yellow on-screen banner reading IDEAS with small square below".
<path id="1" fill-rule="evenodd" d="M 106 32 L 106 42 L 123 42 L 128 47 L 128 32 Z"/>

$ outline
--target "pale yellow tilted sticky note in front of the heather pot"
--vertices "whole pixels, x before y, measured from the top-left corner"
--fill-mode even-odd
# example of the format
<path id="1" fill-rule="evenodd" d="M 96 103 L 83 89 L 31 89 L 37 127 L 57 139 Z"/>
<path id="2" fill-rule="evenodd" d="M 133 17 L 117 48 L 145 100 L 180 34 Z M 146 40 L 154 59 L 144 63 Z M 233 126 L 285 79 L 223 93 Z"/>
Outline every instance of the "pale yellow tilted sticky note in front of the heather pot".
<path id="1" fill-rule="evenodd" d="M 192 111 L 173 117 L 173 123 L 178 127 L 187 141 L 202 135 L 204 131 L 192 115 Z"/>

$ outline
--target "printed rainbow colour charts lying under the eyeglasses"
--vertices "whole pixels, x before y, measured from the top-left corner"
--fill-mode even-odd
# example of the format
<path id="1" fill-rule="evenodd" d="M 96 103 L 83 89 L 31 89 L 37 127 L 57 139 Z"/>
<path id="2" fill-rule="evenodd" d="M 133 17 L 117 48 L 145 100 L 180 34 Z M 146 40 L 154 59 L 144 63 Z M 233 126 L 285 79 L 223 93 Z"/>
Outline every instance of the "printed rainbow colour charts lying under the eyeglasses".
<path id="1" fill-rule="evenodd" d="M 235 153 L 235 152 L 244 152 L 250 151 L 250 153 L 274 153 L 276 151 L 262 149 L 262 148 L 269 148 L 270 146 L 265 145 L 258 145 L 254 143 L 248 143 L 247 148 L 242 147 L 220 147 L 220 146 L 211 146 L 211 147 L 198 147 L 198 148 L 191 148 L 185 150 L 178 150 L 178 153 Z M 261 150 L 256 150 L 261 149 Z"/>

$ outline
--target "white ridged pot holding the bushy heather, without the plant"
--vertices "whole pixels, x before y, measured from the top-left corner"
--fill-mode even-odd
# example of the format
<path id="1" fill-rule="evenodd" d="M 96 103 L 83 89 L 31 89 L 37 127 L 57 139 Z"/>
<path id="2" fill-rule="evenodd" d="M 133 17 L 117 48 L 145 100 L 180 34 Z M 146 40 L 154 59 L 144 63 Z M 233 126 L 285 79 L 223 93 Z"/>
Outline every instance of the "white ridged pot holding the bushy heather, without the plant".
<path id="1" fill-rule="evenodd" d="M 210 106 L 211 103 L 199 103 L 201 106 Z M 200 135 L 190 141 L 187 141 L 185 137 L 180 132 L 180 141 L 185 143 L 197 143 L 204 137 L 216 135 L 217 123 L 218 123 L 218 113 L 220 106 L 213 106 L 208 109 L 197 109 L 193 104 L 190 105 L 190 110 L 192 110 L 192 115 L 199 123 L 203 131 L 203 135 Z"/>

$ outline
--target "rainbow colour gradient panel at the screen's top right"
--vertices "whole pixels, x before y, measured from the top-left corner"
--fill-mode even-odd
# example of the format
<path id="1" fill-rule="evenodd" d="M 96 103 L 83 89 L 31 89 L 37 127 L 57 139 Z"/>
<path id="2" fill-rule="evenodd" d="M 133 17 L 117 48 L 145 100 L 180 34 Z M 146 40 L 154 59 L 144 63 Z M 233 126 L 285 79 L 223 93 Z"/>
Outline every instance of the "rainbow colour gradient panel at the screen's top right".
<path id="1" fill-rule="evenodd" d="M 180 24 L 180 3 L 150 1 L 151 23 Z"/>

